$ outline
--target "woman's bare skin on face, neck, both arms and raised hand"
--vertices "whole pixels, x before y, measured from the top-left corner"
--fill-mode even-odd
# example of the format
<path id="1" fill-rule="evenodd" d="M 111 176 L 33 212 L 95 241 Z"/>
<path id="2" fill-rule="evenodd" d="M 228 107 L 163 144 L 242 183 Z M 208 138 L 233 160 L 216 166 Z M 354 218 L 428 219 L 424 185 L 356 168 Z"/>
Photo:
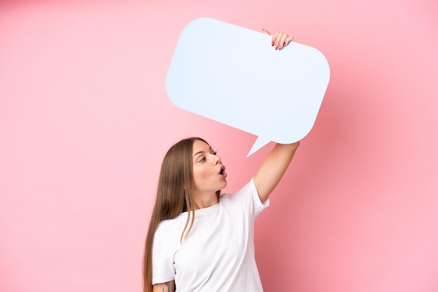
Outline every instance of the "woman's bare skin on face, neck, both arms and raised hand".
<path id="1" fill-rule="evenodd" d="M 269 31 L 265 29 L 263 29 L 263 32 L 269 34 Z M 275 46 L 276 50 L 282 50 L 291 41 L 293 41 L 293 36 L 277 31 L 272 36 L 271 45 Z M 277 143 L 255 173 L 254 184 L 262 203 L 269 198 L 269 194 L 280 182 L 298 146 L 299 141 L 292 144 Z M 216 205 L 218 203 L 216 191 L 227 186 L 227 173 L 225 173 L 225 170 L 222 174 L 220 173 L 220 169 L 223 167 L 222 159 L 208 144 L 200 140 L 193 143 L 192 159 L 195 180 L 194 196 L 197 209 Z M 164 291 L 174 292 L 175 281 L 153 286 L 153 292 Z"/>

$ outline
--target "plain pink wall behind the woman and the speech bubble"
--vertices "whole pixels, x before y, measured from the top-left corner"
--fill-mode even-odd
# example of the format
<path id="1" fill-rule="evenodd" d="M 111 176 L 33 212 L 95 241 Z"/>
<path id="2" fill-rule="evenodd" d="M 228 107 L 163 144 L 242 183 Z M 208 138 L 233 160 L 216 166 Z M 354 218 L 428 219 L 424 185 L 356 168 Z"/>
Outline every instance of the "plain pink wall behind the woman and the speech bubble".
<path id="1" fill-rule="evenodd" d="M 0 291 L 140 291 L 180 138 L 218 150 L 227 191 L 253 175 L 271 144 L 246 159 L 255 136 L 166 96 L 197 17 L 288 31 L 330 63 L 316 124 L 256 222 L 265 291 L 438 291 L 438 5 L 352 2 L 0 1 Z"/>

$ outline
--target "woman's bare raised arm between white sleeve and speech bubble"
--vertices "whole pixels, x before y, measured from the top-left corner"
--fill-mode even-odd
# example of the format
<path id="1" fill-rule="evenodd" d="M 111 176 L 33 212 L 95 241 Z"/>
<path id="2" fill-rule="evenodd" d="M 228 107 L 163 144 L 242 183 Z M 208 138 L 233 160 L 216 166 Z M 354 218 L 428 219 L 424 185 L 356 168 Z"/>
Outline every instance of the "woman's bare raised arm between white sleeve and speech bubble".
<path id="1" fill-rule="evenodd" d="M 293 144 L 276 144 L 255 173 L 254 184 L 262 203 L 280 182 L 298 146 L 299 141 Z"/>

